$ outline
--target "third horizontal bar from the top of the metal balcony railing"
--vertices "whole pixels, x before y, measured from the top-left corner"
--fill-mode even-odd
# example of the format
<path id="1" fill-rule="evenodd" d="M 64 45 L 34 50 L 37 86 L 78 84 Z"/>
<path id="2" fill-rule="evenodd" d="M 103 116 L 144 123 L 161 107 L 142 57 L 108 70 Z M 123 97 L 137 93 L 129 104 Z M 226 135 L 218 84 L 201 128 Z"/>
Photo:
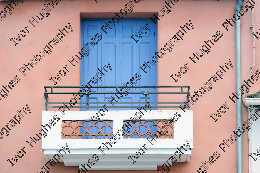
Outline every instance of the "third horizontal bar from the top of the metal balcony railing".
<path id="1" fill-rule="evenodd" d="M 66 104 L 67 102 L 45 102 L 48 105 Z M 120 104 L 146 104 L 145 102 L 113 102 L 115 105 Z M 184 102 L 149 102 L 149 104 L 182 104 Z M 111 102 L 77 102 L 77 105 L 96 105 L 96 104 L 112 104 Z"/>

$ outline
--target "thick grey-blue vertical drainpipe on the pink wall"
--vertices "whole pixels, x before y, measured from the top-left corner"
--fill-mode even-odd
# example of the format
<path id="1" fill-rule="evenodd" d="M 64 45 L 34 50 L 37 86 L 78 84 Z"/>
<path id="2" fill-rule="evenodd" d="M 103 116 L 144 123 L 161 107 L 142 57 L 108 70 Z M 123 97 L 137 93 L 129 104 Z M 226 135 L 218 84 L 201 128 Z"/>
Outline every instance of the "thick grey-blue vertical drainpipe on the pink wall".
<path id="1" fill-rule="evenodd" d="M 236 11 L 240 10 L 242 0 L 237 0 Z M 236 14 L 238 14 L 236 12 Z M 238 14 L 239 15 L 239 14 Z M 240 19 L 236 21 L 236 92 L 241 87 Z M 237 130 L 242 126 L 242 97 L 236 102 Z M 237 173 L 242 173 L 242 136 L 237 138 Z"/>

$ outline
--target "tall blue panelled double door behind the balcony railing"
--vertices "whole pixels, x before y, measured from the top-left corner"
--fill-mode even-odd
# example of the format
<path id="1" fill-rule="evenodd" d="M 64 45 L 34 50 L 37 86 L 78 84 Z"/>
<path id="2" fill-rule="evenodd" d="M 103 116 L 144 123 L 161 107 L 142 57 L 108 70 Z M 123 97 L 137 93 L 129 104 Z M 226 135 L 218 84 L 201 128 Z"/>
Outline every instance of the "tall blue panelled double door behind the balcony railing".
<path id="1" fill-rule="evenodd" d="M 105 67 L 108 72 L 103 70 L 105 75 L 102 75 L 102 81 L 98 81 L 98 83 L 96 84 L 98 86 L 123 85 L 123 83 L 130 82 L 130 79 L 132 77 L 135 77 L 136 73 L 138 73 L 138 75 L 141 75 L 141 79 L 137 80 L 137 83 L 132 85 L 156 85 L 156 64 L 151 69 L 147 67 L 147 69 L 149 68 L 147 70 L 147 73 L 142 72 L 141 74 L 140 71 L 140 66 L 144 63 L 144 61 L 147 62 L 151 60 L 151 57 L 154 56 L 154 52 L 157 50 L 156 25 L 154 23 L 151 23 L 148 19 L 122 19 L 118 23 L 114 23 L 115 26 L 109 23 L 109 26 L 112 29 L 107 26 L 106 33 L 101 29 L 101 27 L 103 25 L 106 25 L 105 22 L 108 23 L 108 21 L 112 20 L 82 19 L 81 48 L 84 47 L 84 44 L 86 45 L 87 43 L 91 43 L 91 40 L 93 38 L 96 38 L 95 41 L 92 40 L 93 43 L 96 43 L 98 39 L 99 41 L 97 44 L 92 44 L 93 47 L 88 46 L 89 48 L 91 48 L 91 50 L 89 50 L 89 55 L 81 59 L 81 85 L 87 84 L 92 77 L 95 77 L 96 73 L 100 72 L 98 71 L 98 68 L 101 69 L 102 67 L 109 66 L 108 62 L 112 68 L 112 71 Z M 131 37 L 132 35 L 138 40 L 137 43 Z M 139 37 L 137 37 L 136 35 Z M 92 88 L 91 91 L 116 91 L 116 89 Z M 156 91 L 156 88 L 130 88 L 130 90 L 128 91 Z M 108 99 L 112 100 L 111 95 L 115 97 L 115 94 L 90 94 L 89 102 L 109 102 Z M 117 95 L 119 96 L 119 94 Z M 127 96 L 125 96 L 125 94 L 123 94 L 123 97 L 117 100 L 118 102 L 145 102 L 145 95 L 128 94 Z M 86 102 L 85 96 L 83 97 L 83 100 L 81 102 Z M 156 102 L 156 95 L 148 95 L 148 102 Z M 96 106 L 103 105 L 104 104 L 100 104 Z M 99 109 L 100 108 L 89 108 L 89 110 Z M 82 108 L 81 110 L 86 110 L 86 108 Z M 108 110 L 137 109 L 108 108 Z M 88 118 L 89 117 L 87 117 L 87 119 Z"/>

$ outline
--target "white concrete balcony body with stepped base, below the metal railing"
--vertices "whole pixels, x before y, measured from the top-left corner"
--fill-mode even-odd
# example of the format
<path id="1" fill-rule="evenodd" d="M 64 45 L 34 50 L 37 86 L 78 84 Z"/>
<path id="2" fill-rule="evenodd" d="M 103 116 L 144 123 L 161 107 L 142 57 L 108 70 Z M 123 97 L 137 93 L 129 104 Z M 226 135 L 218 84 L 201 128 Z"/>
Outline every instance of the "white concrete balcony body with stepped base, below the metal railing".
<path id="1" fill-rule="evenodd" d="M 59 162 L 64 162 L 65 166 L 77 166 L 79 170 L 85 171 L 86 169 L 156 170 L 157 166 L 165 164 L 171 156 L 175 156 L 176 162 L 189 162 L 193 149 L 193 113 L 191 110 L 186 110 L 186 112 L 183 110 L 148 110 L 145 112 L 145 114 L 141 116 L 141 120 L 172 120 L 172 123 L 170 122 L 172 126 L 167 123 L 167 126 L 164 127 L 165 129 L 171 129 L 171 127 L 174 129 L 174 138 L 165 138 L 165 136 L 167 137 L 167 135 L 165 135 L 163 136 L 164 138 L 150 138 L 150 141 L 145 139 L 151 135 L 149 132 L 146 133 L 146 137 L 140 139 L 123 138 L 123 136 L 120 136 L 123 134 L 123 121 L 129 120 L 136 112 L 137 111 L 134 110 L 110 110 L 106 112 L 104 116 L 100 117 L 100 119 L 104 121 L 113 121 L 111 133 L 117 133 L 116 136 L 112 135 L 114 139 L 111 139 L 112 136 L 109 137 L 110 139 L 62 139 L 62 121 L 88 120 L 88 118 L 95 115 L 97 111 L 64 111 L 65 115 L 61 114 L 60 111 L 42 111 L 42 125 L 45 126 L 48 124 L 51 127 L 51 129 L 49 129 L 46 126 L 49 132 L 47 132 L 45 138 L 42 138 L 42 149 L 44 150 L 46 162 L 53 159 L 54 154 L 58 154 L 56 150 L 60 150 L 63 147 L 66 148 L 66 144 L 70 152 L 63 149 L 66 154 L 61 151 L 63 156 L 60 157 Z M 54 126 L 51 126 L 49 123 L 51 119 L 54 119 L 54 115 L 57 115 L 55 116 L 56 120 L 54 120 L 54 122 L 58 121 L 57 117 L 59 117 L 60 120 L 56 122 Z M 51 124 L 53 125 L 54 123 L 51 121 Z M 160 127 L 163 127 L 163 125 Z M 160 127 L 157 127 L 159 132 Z M 73 130 L 73 132 L 74 131 L 75 130 Z M 163 128 L 162 131 L 165 132 Z M 118 132 L 120 135 L 118 135 Z M 161 132 L 161 134 L 163 133 Z M 145 136 L 145 134 L 141 137 L 143 136 Z M 157 133 L 157 136 L 159 137 L 160 135 Z M 117 139 L 119 137 L 120 139 Z M 187 145 L 187 141 L 190 149 L 184 146 L 184 144 Z M 112 145 L 112 147 L 106 144 L 106 142 Z M 106 149 L 102 143 L 106 144 L 108 149 Z M 142 146 L 144 146 L 145 149 Z M 180 148 L 181 146 L 184 146 L 187 150 L 185 151 L 184 148 L 181 148 L 184 154 L 177 149 L 177 147 Z M 104 154 L 102 154 L 101 151 Z M 135 163 L 128 158 L 129 156 L 131 156 Z M 98 161 L 97 157 L 99 158 Z M 168 163 L 171 164 L 171 161 Z M 82 168 L 84 165 L 85 169 Z"/>

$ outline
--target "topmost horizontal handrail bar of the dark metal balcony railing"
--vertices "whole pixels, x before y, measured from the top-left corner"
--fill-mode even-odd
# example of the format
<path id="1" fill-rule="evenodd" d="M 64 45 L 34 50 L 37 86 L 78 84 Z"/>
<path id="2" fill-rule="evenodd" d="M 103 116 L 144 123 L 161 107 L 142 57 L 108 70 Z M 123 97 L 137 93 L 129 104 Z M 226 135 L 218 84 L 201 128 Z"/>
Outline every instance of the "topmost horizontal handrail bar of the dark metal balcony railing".
<path id="1" fill-rule="evenodd" d="M 44 88 L 83 88 L 84 86 L 44 86 Z M 163 85 L 163 86 L 151 86 L 151 85 L 143 85 L 143 86 L 92 86 L 92 88 L 189 88 L 190 86 L 167 86 L 167 85 Z"/>

